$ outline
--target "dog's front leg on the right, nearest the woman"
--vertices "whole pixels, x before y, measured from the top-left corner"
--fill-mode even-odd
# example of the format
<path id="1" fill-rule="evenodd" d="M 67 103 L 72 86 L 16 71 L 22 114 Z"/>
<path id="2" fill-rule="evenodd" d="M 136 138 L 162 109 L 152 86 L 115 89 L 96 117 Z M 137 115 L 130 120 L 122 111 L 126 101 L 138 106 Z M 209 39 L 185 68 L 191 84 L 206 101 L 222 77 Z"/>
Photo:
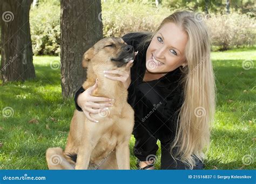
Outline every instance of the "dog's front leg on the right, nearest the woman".
<path id="1" fill-rule="evenodd" d="M 122 141 L 117 145 L 116 156 L 118 169 L 130 169 L 129 141 Z"/>

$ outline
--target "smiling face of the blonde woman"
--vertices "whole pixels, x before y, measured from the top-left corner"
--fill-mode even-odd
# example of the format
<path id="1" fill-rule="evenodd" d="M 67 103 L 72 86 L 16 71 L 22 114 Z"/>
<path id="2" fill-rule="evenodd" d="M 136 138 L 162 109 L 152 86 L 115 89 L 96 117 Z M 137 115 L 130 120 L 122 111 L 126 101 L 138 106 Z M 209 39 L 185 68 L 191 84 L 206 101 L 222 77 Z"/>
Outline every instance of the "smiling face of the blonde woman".
<path id="1" fill-rule="evenodd" d="M 187 34 L 174 23 L 166 23 L 154 35 L 146 52 L 146 69 L 167 73 L 185 64 Z"/>

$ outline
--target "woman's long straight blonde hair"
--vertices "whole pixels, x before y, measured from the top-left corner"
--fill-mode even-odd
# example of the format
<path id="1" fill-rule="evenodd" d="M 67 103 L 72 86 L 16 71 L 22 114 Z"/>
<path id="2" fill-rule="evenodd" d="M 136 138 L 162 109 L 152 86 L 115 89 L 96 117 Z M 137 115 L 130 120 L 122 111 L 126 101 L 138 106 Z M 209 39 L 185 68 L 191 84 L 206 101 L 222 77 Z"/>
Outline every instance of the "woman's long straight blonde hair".
<path id="1" fill-rule="evenodd" d="M 204 22 L 193 12 L 177 11 L 166 17 L 156 31 L 142 32 L 147 36 L 140 43 L 144 47 L 166 23 L 181 26 L 188 36 L 185 48 L 186 67 L 183 84 L 184 102 L 179 109 L 176 137 L 170 145 L 173 158 L 184 162 L 190 169 L 196 159 L 204 160 L 210 145 L 210 127 L 215 111 L 215 82 L 210 60 L 211 42 Z M 173 148 L 177 149 L 173 154 Z M 205 150 L 206 149 L 206 150 Z"/>

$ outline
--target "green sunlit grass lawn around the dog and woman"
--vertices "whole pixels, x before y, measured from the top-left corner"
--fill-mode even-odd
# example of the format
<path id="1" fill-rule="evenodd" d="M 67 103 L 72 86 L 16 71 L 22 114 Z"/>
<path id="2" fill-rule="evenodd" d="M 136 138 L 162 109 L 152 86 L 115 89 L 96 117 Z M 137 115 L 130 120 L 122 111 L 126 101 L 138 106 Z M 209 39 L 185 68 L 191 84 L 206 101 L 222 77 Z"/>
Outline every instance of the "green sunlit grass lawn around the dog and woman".
<path id="1" fill-rule="evenodd" d="M 59 57 L 34 56 L 33 60 L 35 80 L 10 82 L 0 87 L 2 169 L 47 169 L 46 149 L 53 146 L 64 148 L 66 144 L 75 105 L 72 99 L 62 99 L 60 71 L 50 68 L 50 62 L 59 61 Z M 244 60 L 255 63 L 255 49 L 213 52 L 212 60 L 218 101 L 206 169 L 255 169 L 256 69 L 255 66 L 249 70 L 242 68 Z M 61 105 L 63 108 L 58 109 Z M 11 117 L 3 116 L 5 107 L 14 110 Z M 54 121 L 46 121 L 52 114 Z M 29 123 L 33 118 L 38 123 Z M 133 146 L 132 137 L 131 168 L 135 169 Z M 244 165 L 242 158 L 245 155 L 251 155 L 254 162 Z M 160 148 L 157 156 L 159 169 Z"/>

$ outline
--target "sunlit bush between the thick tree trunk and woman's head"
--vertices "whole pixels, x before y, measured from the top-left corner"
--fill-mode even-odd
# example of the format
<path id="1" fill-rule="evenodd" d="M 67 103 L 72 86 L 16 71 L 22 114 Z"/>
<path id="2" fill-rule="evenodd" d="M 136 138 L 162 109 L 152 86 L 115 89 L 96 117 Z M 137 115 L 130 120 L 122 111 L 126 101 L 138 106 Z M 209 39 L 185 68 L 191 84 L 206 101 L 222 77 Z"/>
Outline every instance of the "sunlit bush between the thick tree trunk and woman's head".
<path id="1" fill-rule="evenodd" d="M 121 37 L 133 31 L 154 31 L 171 14 L 167 8 L 149 3 L 102 2 L 104 37 Z"/>

